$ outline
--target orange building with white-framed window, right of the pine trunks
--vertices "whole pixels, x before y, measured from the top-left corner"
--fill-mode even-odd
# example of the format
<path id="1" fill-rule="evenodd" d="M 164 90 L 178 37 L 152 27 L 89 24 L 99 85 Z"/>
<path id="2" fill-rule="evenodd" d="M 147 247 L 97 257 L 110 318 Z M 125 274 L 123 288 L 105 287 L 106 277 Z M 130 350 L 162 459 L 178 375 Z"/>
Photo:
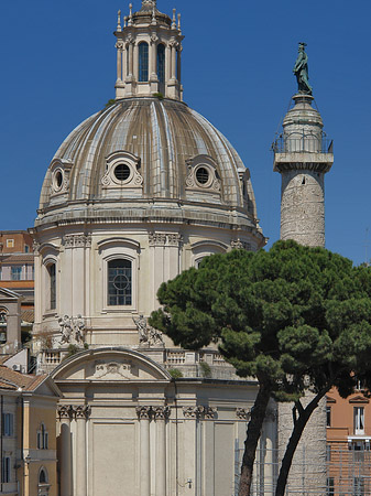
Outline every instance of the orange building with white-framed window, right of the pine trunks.
<path id="1" fill-rule="evenodd" d="M 347 399 L 327 395 L 327 493 L 363 496 L 371 492 L 371 403 L 362 390 Z"/>

